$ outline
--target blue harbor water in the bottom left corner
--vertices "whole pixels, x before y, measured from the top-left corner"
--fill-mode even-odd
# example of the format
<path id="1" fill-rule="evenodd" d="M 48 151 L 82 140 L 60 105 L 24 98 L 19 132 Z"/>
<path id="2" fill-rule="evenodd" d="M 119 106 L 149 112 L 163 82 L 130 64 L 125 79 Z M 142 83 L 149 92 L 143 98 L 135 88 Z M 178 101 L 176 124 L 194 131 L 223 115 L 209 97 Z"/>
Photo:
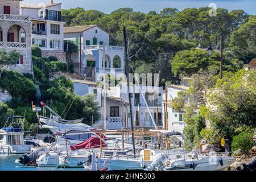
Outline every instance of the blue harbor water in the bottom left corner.
<path id="1" fill-rule="evenodd" d="M 83 168 L 56 168 L 56 167 L 34 167 L 23 166 L 15 163 L 20 155 L 0 155 L 0 171 L 82 171 Z"/>

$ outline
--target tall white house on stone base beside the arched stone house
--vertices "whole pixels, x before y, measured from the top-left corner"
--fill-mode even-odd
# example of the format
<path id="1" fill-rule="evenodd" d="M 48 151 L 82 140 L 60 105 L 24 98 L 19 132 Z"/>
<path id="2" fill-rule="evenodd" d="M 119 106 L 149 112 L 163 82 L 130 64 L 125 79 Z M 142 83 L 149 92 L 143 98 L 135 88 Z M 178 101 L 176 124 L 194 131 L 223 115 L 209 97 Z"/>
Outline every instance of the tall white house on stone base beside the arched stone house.
<path id="1" fill-rule="evenodd" d="M 43 57 L 55 56 L 65 61 L 61 3 L 51 0 L 49 4 L 22 4 L 20 13 L 30 16 L 32 44 L 42 49 Z"/>

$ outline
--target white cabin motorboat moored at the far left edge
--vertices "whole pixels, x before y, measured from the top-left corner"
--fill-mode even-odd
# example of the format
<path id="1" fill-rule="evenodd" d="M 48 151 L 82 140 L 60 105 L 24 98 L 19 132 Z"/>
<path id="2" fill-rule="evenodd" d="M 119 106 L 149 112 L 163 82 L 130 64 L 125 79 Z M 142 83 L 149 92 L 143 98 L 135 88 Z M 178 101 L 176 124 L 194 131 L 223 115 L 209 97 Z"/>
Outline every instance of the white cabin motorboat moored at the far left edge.
<path id="1" fill-rule="evenodd" d="M 24 117 L 9 117 L 6 123 L 9 119 L 12 119 L 10 125 L 0 129 L 0 154 L 30 153 L 31 144 L 24 143 L 24 131 L 19 126 L 23 125 Z"/>

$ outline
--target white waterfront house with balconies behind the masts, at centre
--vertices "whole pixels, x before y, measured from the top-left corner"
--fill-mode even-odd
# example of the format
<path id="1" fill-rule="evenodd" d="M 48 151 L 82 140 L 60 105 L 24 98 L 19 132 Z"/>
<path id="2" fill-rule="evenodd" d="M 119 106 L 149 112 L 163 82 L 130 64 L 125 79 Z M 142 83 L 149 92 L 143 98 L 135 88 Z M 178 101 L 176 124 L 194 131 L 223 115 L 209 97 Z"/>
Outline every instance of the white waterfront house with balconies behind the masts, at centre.
<path id="1" fill-rule="evenodd" d="M 106 127 L 107 129 L 109 130 L 121 129 L 122 126 L 125 127 L 124 121 L 122 123 L 122 114 L 123 114 L 123 118 L 125 118 L 125 113 L 128 114 L 127 115 L 128 122 L 126 122 L 126 127 L 129 127 L 129 128 L 131 127 L 131 118 L 133 119 L 133 122 L 135 119 L 135 123 L 134 123 L 135 129 L 138 127 L 145 127 L 146 130 L 155 129 L 155 125 L 159 126 L 160 129 L 163 127 L 162 87 L 142 86 L 141 88 L 142 90 L 144 90 L 143 93 L 139 92 L 138 86 L 134 86 L 134 87 L 131 86 L 131 92 L 133 92 L 131 94 L 133 116 L 130 115 L 129 105 L 127 105 L 127 107 L 125 105 L 125 103 L 129 103 L 129 97 L 126 92 L 127 86 L 122 86 L 122 87 L 113 86 L 113 87 L 110 87 L 109 90 L 107 90 L 107 93 L 106 93 Z M 103 100 L 104 95 L 102 94 L 102 89 L 97 87 L 95 84 L 92 85 L 84 81 L 74 81 L 74 90 L 75 90 L 75 93 L 80 96 L 84 96 L 86 94 L 97 94 L 96 100 L 101 107 L 100 109 L 101 120 L 98 121 L 97 123 L 94 123 L 94 127 L 102 129 L 103 113 L 104 113 L 104 100 Z M 144 99 L 146 100 L 146 102 L 144 101 Z M 121 101 L 123 101 L 123 113 L 122 113 Z M 139 106 L 139 119 L 138 119 L 138 106 Z M 135 111 L 136 111 L 136 116 L 135 116 Z"/>

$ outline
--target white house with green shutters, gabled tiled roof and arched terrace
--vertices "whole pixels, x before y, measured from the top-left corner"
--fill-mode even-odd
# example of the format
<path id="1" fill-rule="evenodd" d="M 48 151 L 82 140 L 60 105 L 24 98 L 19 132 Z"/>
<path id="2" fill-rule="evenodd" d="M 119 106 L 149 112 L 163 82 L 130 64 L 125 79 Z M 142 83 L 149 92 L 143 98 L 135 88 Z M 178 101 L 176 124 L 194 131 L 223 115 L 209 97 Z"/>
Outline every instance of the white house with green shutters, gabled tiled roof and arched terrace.
<path id="1" fill-rule="evenodd" d="M 86 80 L 98 81 L 100 73 L 104 72 L 104 50 L 102 44 L 105 42 L 105 73 L 117 75 L 123 73 L 124 49 L 118 46 L 109 46 L 109 34 L 96 24 L 89 26 L 64 27 L 64 40 L 73 41 L 80 47 L 81 36 L 81 74 Z M 73 53 L 71 60 L 78 72 L 80 54 Z"/>

